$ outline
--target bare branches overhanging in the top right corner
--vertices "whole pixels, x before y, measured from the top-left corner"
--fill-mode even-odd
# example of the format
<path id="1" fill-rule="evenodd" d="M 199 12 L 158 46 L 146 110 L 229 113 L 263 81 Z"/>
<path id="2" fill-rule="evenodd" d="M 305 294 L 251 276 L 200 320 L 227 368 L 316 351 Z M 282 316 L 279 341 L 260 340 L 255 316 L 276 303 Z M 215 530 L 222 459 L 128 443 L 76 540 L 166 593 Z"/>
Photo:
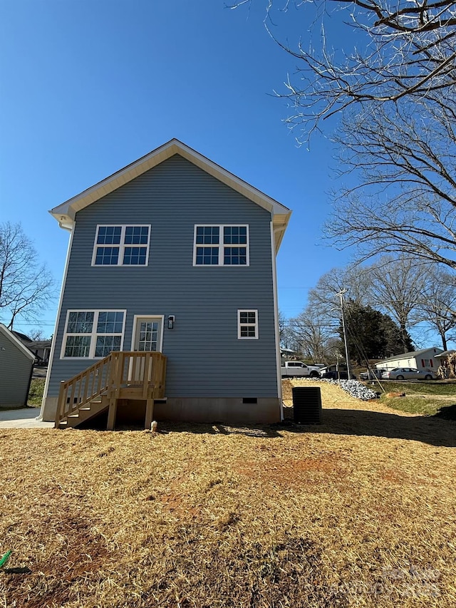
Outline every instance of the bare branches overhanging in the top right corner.
<path id="1" fill-rule="evenodd" d="M 252 4 L 239 0 L 232 8 Z M 304 130 L 353 106 L 372 108 L 404 98 L 445 95 L 456 84 L 456 1 L 268 0 L 264 24 L 281 48 L 296 58 L 286 81 L 294 108 L 288 122 Z M 276 23 L 293 6 L 304 31 L 289 43 Z M 299 16 L 297 17 L 299 19 Z M 347 32 L 330 41 L 328 21 Z M 306 31 L 310 34 L 306 35 Z M 336 50 L 336 46 L 338 50 Z M 341 50 L 342 49 L 342 50 Z"/>

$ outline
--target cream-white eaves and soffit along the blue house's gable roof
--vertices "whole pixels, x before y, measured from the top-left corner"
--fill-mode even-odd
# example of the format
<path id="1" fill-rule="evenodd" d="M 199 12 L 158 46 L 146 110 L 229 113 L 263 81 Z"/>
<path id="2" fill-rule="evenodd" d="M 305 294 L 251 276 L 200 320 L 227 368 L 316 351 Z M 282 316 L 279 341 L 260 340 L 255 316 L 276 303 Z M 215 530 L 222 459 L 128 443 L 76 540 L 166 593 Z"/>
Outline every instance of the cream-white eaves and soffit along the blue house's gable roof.
<path id="1" fill-rule="evenodd" d="M 284 205 L 281 205 L 281 203 L 265 195 L 263 192 L 260 192 L 257 188 L 244 182 L 244 180 L 241 180 L 239 177 L 233 175 L 219 165 L 216 165 L 212 160 L 209 160 L 195 150 L 192 150 L 192 148 L 189 148 L 177 139 L 170 140 L 164 145 L 161 145 L 160 148 L 152 150 L 149 154 L 135 160 L 134 163 L 127 165 L 123 169 L 113 173 L 113 175 L 106 177 L 101 182 L 84 190 L 81 194 L 72 197 L 57 207 L 53 207 L 50 213 L 56 218 L 61 227 L 72 230 L 78 211 L 88 207 L 88 205 L 91 205 L 93 202 L 108 195 L 110 192 L 117 190 L 131 180 L 134 180 L 135 177 L 142 175 L 142 173 L 160 165 L 164 160 L 171 158 L 175 154 L 181 155 L 183 158 L 189 160 L 190 163 L 193 163 L 203 171 L 209 173 L 209 175 L 212 175 L 217 180 L 228 185 L 249 200 L 252 200 L 252 202 L 271 212 L 273 217 L 276 251 L 279 249 L 281 239 L 284 237 L 286 225 L 289 222 L 291 211 Z"/>

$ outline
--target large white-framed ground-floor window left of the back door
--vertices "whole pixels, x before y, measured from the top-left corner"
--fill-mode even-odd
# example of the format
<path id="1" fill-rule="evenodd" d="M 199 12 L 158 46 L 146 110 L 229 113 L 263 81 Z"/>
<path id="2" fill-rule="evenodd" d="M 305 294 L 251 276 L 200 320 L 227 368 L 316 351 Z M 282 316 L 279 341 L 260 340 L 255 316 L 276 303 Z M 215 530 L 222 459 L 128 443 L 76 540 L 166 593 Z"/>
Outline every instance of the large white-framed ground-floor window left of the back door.
<path id="1" fill-rule="evenodd" d="M 101 359 L 122 350 L 125 310 L 69 310 L 61 359 Z"/>

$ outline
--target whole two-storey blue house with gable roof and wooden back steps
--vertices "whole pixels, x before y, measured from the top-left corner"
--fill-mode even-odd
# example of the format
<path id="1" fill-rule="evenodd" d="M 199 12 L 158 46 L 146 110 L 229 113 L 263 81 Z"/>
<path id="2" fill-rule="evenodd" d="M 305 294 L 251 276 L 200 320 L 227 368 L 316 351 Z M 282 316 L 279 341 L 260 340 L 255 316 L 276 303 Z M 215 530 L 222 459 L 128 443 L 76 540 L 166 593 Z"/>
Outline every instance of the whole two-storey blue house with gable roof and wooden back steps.
<path id="1" fill-rule="evenodd" d="M 51 210 L 71 239 L 43 419 L 279 421 L 290 214 L 178 140 Z"/>

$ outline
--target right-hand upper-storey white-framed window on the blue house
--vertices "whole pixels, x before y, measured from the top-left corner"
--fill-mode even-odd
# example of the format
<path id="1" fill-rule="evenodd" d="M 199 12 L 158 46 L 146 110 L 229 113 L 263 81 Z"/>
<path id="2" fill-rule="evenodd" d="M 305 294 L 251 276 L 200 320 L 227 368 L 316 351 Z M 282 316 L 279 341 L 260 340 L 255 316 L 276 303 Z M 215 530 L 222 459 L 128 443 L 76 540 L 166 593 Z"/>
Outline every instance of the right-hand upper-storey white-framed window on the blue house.
<path id="1" fill-rule="evenodd" d="M 249 266 L 248 225 L 195 225 L 194 266 Z"/>

